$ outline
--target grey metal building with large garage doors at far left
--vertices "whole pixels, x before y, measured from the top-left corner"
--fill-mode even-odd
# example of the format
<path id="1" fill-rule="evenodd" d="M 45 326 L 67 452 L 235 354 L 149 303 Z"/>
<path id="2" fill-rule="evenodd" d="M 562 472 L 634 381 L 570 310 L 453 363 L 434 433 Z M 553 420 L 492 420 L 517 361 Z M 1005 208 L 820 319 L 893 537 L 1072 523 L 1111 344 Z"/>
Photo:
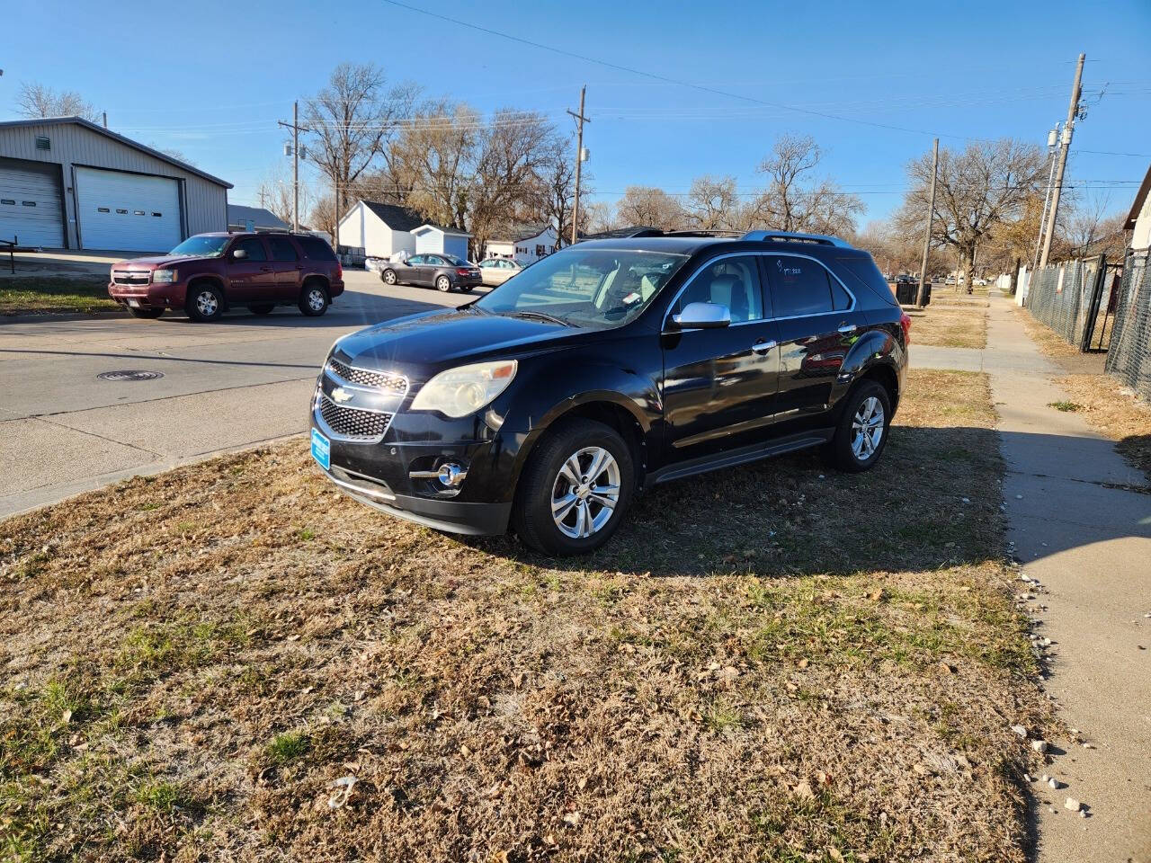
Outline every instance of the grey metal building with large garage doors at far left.
<path id="1" fill-rule="evenodd" d="M 228 229 L 230 183 L 81 117 L 0 122 L 0 239 L 167 252 Z"/>

